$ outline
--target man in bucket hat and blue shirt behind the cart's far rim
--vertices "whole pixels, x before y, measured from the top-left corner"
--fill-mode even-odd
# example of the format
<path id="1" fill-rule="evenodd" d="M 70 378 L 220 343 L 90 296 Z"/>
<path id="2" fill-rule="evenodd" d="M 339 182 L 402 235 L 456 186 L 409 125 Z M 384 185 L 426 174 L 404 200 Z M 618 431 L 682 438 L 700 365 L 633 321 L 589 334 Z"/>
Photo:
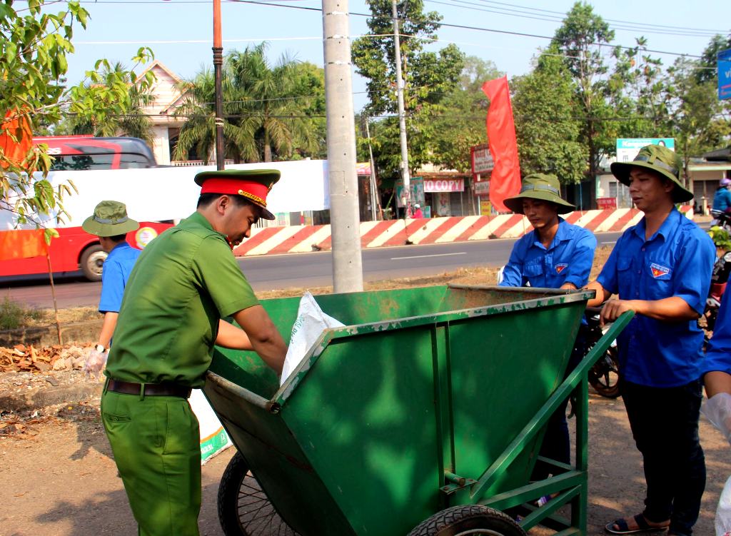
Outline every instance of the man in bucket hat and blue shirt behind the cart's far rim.
<path id="1" fill-rule="evenodd" d="M 515 243 L 510 260 L 503 271 L 501 287 L 560 288 L 576 290 L 589 280 L 594 262 L 596 238 L 590 231 L 566 222 L 565 214 L 575 206 L 561 199 L 560 184 L 555 175 L 535 173 L 523 179 L 520 194 L 504 201 L 516 214 L 524 214 L 533 230 Z M 582 325 L 569 361 L 572 371 L 583 358 L 586 334 Z M 564 401 L 553 413 L 540 450 L 540 456 L 571 463 L 569 426 Z M 534 480 L 548 478 L 550 466 L 538 463 Z M 545 499 L 545 498 L 544 498 Z"/>

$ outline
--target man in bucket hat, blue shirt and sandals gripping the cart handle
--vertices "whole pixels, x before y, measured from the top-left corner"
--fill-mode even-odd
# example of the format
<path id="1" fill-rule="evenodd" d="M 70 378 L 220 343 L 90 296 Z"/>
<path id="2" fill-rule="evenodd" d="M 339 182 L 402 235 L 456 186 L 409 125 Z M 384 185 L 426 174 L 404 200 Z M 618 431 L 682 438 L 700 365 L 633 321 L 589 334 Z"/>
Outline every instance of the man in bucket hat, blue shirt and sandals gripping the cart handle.
<path id="1" fill-rule="evenodd" d="M 647 492 L 642 513 L 607 524 L 612 534 L 669 527 L 669 535 L 689 536 L 705 488 L 697 319 L 716 252 L 711 238 L 675 208 L 693 198 L 681 184 L 682 168 L 680 156 L 662 146 L 645 146 L 633 162 L 612 164 L 644 217 L 621 235 L 587 287 L 596 290 L 589 305 L 619 296 L 605 304 L 602 322 L 635 312 L 617 343 L 622 398 Z"/>

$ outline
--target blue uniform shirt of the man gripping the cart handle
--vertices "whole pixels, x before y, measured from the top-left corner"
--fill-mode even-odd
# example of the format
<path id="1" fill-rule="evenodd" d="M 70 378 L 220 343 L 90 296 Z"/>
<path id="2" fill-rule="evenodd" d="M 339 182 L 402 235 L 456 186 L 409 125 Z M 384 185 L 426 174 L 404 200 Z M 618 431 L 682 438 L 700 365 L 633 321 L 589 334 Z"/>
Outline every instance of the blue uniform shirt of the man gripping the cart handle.
<path id="1" fill-rule="evenodd" d="M 678 296 L 702 314 L 715 257 L 711 238 L 673 208 L 648 240 L 644 218 L 626 230 L 597 281 L 621 300 Z M 696 320 L 662 322 L 637 314 L 618 338 L 620 374 L 639 385 L 685 385 L 700 377 L 702 343 Z"/>

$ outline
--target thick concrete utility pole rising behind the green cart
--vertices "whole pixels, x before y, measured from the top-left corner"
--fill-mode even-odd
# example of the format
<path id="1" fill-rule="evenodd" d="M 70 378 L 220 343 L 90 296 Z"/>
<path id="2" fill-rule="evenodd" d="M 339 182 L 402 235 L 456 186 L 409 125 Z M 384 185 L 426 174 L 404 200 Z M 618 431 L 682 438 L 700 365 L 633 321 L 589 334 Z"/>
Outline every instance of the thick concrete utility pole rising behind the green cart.
<path id="1" fill-rule="evenodd" d="M 330 225 L 333 230 L 333 287 L 335 292 L 360 292 L 363 290 L 363 264 L 360 258 L 347 0 L 322 0 L 322 37 L 325 51 L 327 173 L 330 180 Z"/>

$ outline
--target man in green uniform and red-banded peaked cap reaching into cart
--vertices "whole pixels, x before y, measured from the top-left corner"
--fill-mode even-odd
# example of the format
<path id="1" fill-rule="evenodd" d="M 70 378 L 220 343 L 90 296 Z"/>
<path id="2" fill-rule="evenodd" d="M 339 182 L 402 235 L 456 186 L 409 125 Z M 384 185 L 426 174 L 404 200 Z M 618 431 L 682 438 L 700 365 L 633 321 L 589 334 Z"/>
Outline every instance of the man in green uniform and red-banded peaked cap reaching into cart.
<path id="1" fill-rule="evenodd" d="M 102 421 L 140 536 L 197 536 L 200 438 L 187 398 L 213 345 L 255 350 L 281 372 L 287 347 L 232 254 L 261 218 L 276 170 L 196 175 L 197 211 L 152 241 L 124 292 Z M 222 317 L 232 316 L 238 329 Z"/>

